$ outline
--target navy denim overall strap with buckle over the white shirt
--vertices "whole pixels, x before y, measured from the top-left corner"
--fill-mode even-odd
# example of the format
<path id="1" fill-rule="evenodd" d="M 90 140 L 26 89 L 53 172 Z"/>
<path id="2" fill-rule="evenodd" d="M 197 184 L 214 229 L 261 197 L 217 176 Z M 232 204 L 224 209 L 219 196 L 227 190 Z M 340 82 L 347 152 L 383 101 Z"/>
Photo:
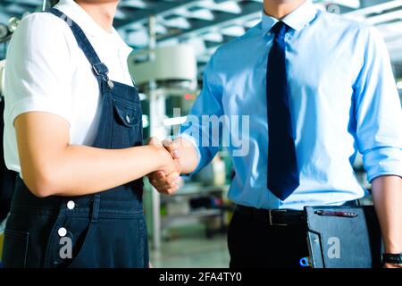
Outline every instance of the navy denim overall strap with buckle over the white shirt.
<path id="1" fill-rule="evenodd" d="M 75 21 L 72 21 L 71 18 L 69 18 L 66 14 L 55 8 L 50 8 L 45 12 L 54 14 L 55 16 L 65 21 L 67 25 L 69 25 L 72 34 L 74 35 L 78 45 L 80 46 L 80 49 L 82 50 L 82 52 L 84 52 L 84 55 L 87 57 L 89 63 L 91 64 L 96 78 L 99 81 L 105 80 L 108 88 L 113 88 L 113 82 L 112 80 L 109 80 L 109 77 L 107 76 L 109 70 L 107 69 L 105 63 L 102 63 L 99 59 L 99 56 L 96 54 L 94 47 L 89 42 L 87 36 L 85 36 L 84 31 L 80 28 L 80 26 Z"/>

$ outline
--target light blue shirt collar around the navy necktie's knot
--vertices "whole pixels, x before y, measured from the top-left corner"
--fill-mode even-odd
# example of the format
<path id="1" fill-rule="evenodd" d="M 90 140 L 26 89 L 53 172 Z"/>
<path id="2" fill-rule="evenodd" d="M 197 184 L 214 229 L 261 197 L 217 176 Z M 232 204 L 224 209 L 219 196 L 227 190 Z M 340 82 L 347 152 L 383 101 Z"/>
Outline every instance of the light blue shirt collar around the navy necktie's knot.
<path id="1" fill-rule="evenodd" d="M 281 21 L 285 22 L 290 28 L 299 31 L 312 21 L 317 13 L 317 8 L 311 0 L 306 0 L 304 4 L 301 4 L 295 11 L 289 13 Z M 268 16 L 263 11 L 263 21 L 261 29 L 264 35 L 272 29 L 272 26 L 279 21 L 271 16 Z"/>

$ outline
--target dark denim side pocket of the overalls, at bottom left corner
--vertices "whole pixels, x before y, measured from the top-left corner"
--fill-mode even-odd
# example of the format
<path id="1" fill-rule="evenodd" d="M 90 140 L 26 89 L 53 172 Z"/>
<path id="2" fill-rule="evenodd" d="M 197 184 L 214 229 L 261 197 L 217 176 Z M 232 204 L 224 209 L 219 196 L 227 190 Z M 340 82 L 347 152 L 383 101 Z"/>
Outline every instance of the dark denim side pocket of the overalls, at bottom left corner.
<path id="1" fill-rule="evenodd" d="M 2 262 L 5 268 L 25 268 L 28 257 L 29 232 L 4 230 Z"/>

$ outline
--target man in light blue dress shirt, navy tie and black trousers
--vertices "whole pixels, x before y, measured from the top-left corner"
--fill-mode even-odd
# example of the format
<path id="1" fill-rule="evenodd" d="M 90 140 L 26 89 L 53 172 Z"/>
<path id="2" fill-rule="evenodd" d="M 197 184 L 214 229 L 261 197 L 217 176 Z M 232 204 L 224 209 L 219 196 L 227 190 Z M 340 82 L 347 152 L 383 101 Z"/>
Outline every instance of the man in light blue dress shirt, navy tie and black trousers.
<path id="1" fill-rule="evenodd" d="M 222 123 L 214 132 L 208 115 L 248 118 L 241 139 L 247 152 L 227 145 L 236 172 L 229 198 L 238 206 L 228 233 L 230 266 L 297 266 L 308 255 L 306 232 L 297 222 L 278 225 L 290 220 L 281 210 L 363 198 L 352 167 L 357 151 L 385 250 L 402 252 L 402 113 L 376 29 L 319 11 L 311 0 L 264 0 L 262 21 L 221 46 L 205 68 L 203 90 L 168 147 L 182 173 L 210 163 L 222 130 L 230 130 Z M 155 172 L 150 181 L 164 193 L 178 189 L 175 174 Z M 277 223 L 266 223 L 266 210 Z"/>

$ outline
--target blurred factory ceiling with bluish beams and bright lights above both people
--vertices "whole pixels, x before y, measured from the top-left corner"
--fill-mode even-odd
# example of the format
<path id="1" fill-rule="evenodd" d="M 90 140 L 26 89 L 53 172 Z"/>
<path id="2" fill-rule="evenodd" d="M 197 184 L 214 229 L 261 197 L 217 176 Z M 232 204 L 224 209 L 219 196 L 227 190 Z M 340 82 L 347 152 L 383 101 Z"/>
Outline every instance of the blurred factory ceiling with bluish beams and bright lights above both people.
<path id="1" fill-rule="evenodd" d="M 47 1 L 50 2 L 50 1 Z M 157 45 L 186 42 L 196 47 L 200 66 L 214 50 L 261 19 L 263 0 L 121 0 L 114 26 L 130 46 L 147 48 L 148 20 L 155 16 Z M 391 59 L 402 63 L 402 0 L 316 0 L 322 10 L 376 26 Z M 0 0 L 0 23 L 40 11 L 43 0 Z M 401 72 L 402 71 L 398 71 Z M 402 76 L 402 74 L 398 74 Z"/>

